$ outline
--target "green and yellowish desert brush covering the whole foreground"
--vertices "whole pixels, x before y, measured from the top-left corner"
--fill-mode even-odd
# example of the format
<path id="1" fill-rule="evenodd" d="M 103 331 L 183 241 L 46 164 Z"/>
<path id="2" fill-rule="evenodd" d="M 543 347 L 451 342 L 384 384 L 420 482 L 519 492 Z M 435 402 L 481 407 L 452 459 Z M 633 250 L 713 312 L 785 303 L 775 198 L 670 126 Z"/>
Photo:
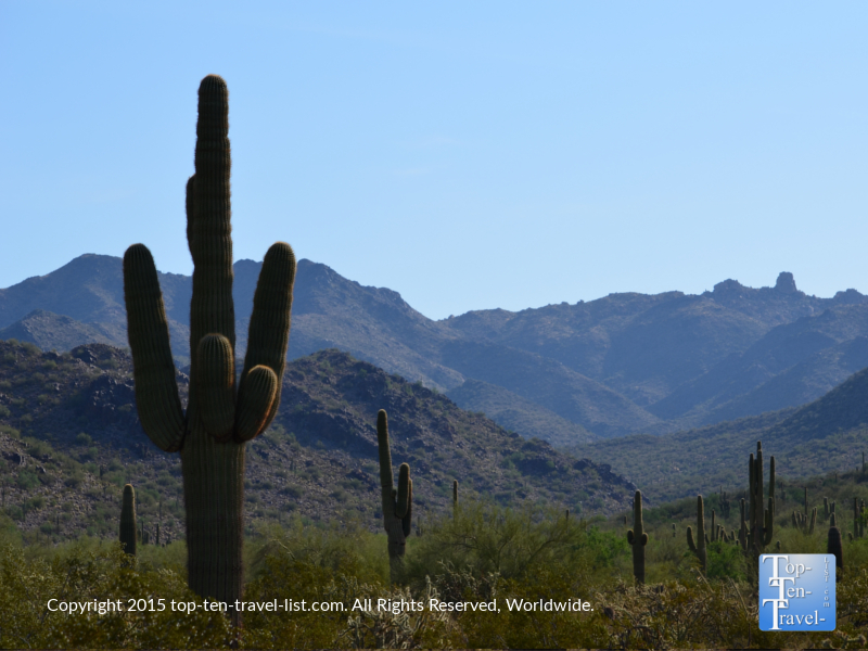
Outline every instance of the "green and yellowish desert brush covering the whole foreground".
<path id="1" fill-rule="evenodd" d="M 839 478 L 829 496 L 865 495 L 865 477 Z M 371 496 L 376 499 L 375 495 Z M 738 496 L 733 496 L 738 497 Z M 809 497 L 809 499 L 812 499 Z M 774 523 L 784 552 L 825 552 L 828 522 L 822 497 L 813 531 L 793 526 L 791 513 Z M 843 648 L 865 646 L 868 635 L 868 539 L 844 536 L 838 584 L 838 630 L 763 633 L 757 627 L 756 571 L 738 541 L 710 539 L 705 574 L 686 541 L 695 527 L 695 500 L 644 510 L 644 584 L 634 579 L 623 516 L 590 521 L 566 512 L 502 509 L 462 500 L 455 513 L 426 521 L 407 539 L 401 575 L 391 583 L 386 535 L 358 521 L 264 526 L 247 540 L 245 602 L 343 604 L 331 612 L 245 612 L 234 641 L 219 612 L 149 610 L 196 601 L 186 585 L 181 540 L 139 545 L 130 560 L 118 542 L 82 536 L 60 545 L 22 545 L 3 519 L 0 559 L 2 648 Z M 851 500 L 852 502 L 852 500 Z M 838 505 L 846 503 L 843 497 Z M 706 509 L 722 508 L 711 496 Z M 723 507 L 725 509 L 725 507 Z M 803 508 L 803 505 L 799 505 Z M 839 515 L 845 511 L 839 506 Z M 691 512 L 692 511 L 692 512 Z M 738 526 L 737 510 L 717 516 Z M 851 509 L 852 514 L 852 509 Z M 711 512 L 705 513 L 711 522 Z M 852 519 L 842 528 L 852 533 Z M 49 599 L 77 602 L 144 600 L 142 612 L 67 615 Z M 356 600 L 496 600 L 500 612 L 411 613 L 352 610 Z M 510 610 L 518 600 L 582 600 L 592 611 Z M 151 604 L 149 607 L 149 604 Z M 54 604 L 56 607 L 56 604 Z M 863 637 L 859 637 L 863 636 Z"/>

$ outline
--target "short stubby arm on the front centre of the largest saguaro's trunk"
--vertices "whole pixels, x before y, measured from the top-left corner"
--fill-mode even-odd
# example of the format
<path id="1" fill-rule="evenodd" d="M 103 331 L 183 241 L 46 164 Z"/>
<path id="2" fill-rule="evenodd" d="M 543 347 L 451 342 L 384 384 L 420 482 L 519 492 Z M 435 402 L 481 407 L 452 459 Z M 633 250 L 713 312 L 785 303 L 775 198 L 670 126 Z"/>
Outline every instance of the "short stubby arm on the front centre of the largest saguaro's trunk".
<path id="1" fill-rule="evenodd" d="M 235 426 L 235 360 L 229 340 L 206 334 L 199 342 L 196 393 L 202 422 L 218 442 L 232 437 Z"/>

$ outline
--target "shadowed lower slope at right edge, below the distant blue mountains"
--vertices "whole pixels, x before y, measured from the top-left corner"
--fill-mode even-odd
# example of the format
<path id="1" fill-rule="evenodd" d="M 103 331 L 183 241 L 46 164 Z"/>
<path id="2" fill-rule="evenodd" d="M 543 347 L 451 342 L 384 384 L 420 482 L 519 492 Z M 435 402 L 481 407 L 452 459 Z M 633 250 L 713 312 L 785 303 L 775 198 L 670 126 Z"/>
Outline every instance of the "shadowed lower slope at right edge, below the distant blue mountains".
<path id="1" fill-rule="evenodd" d="M 668 501 L 719 487 L 741 490 L 740 469 L 763 442 L 784 482 L 861 469 L 868 452 L 868 369 L 799 408 L 663 436 L 634 435 L 593 442 L 573 452 L 612 465 L 643 493 Z M 860 481 L 868 480 L 868 474 Z"/>

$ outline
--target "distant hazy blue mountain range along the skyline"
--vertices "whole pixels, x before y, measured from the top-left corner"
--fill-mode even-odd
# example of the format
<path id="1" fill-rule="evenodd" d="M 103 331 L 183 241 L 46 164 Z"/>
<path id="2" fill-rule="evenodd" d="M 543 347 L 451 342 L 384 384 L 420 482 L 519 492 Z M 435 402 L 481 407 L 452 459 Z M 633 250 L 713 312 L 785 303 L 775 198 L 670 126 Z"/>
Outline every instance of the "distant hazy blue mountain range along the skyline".
<path id="1" fill-rule="evenodd" d="M 85 255 L 0 290 L 2 336 L 59 350 L 87 341 L 125 346 L 120 267 L 119 258 Z M 234 265 L 239 355 L 260 268 L 253 260 Z M 183 367 L 191 279 L 161 273 L 159 281 Z M 808 296 L 787 272 L 770 288 L 726 280 L 701 295 L 611 294 L 433 321 L 396 292 L 301 260 L 288 357 L 340 348 L 460 395 L 468 409 L 503 426 L 570 445 L 586 441 L 585 433 L 658 435 L 803 405 L 868 362 L 865 337 L 868 297 L 855 290 Z M 520 400 L 505 408 L 509 398 L 497 392 Z M 534 426 L 540 418 L 552 427 Z"/>

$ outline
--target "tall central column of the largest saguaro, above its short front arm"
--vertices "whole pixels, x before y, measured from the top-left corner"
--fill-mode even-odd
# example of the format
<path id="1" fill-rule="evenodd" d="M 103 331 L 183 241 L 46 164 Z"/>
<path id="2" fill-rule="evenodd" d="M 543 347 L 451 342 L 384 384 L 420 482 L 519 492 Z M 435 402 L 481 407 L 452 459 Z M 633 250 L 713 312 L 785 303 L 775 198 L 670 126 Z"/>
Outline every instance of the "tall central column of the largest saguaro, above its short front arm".
<path id="1" fill-rule="evenodd" d="M 232 303 L 232 226 L 230 224 L 229 90 L 217 75 L 199 87 L 196 120 L 194 217 L 188 217 L 193 256 L 193 297 L 190 303 L 191 387 L 195 392 L 199 343 L 206 334 L 222 334 L 234 350 L 235 310 Z M 191 224 L 192 221 L 192 224 Z"/>

